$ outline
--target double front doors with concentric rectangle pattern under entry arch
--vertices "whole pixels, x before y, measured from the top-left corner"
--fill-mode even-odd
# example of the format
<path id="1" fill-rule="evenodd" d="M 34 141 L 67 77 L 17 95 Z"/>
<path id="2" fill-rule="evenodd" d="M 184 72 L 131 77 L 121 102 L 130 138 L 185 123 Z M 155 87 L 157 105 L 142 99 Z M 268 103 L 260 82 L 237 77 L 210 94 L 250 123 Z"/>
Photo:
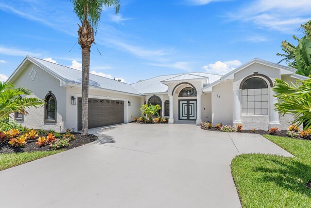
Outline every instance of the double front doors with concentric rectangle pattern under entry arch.
<path id="1" fill-rule="evenodd" d="M 179 100 L 179 120 L 196 120 L 196 100 Z"/>

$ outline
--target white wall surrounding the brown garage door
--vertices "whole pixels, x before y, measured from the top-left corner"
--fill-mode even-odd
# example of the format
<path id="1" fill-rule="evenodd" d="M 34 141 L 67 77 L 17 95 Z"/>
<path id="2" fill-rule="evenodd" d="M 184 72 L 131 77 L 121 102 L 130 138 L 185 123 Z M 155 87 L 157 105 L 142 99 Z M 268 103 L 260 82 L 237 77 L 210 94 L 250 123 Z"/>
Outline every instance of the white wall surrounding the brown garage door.
<path id="1" fill-rule="evenodd" d="M 81 97 L 81 87 L 80 86 L 74 86 L 74 87 L 67 87 L 66 90 L 66 109 L 67 109 L 67 122 L 66 127 L 67 128 L 74 128 L 76 130 L 77 128 L 77 104 L 71 105 L 71 96 L 74 97 Z M 94 89 L 89 88 L 89 97 L 90 98 L 101 98 L 101 99 L 112 99 L 112 100 L 124 100 L 124 122 L 129 123 L 133 121 L 134 117 L 139 117 L 140 112 L 138 109 L 141 105 L 141 96 L 134 96 L 134 95 L 126 95 L 122 93 L 117 93 L 113 91 L 105 91 L 102 89 Z M 128 106 L 128 101 L 131 102 L 131 106 Z"/>

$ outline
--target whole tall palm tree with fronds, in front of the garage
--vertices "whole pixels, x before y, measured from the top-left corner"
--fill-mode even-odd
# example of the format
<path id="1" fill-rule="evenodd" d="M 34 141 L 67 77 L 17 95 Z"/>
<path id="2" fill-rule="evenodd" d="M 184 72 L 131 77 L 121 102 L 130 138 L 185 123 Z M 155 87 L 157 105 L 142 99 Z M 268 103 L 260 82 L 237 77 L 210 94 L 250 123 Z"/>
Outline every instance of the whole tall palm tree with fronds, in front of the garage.
<path id="1" fill-rule="evenodd" d="M 114 6 L 116 15 L 120 10 L 120 0 L 71 0 L 73 11 L 81 20 L 78 30 L 78 42 L 82 50 L 82 135 L 88 134 L 88 83 L 90 48 L 94 43 L 94 30 L 96 32 L 101 19 L 103 6 Z"/>

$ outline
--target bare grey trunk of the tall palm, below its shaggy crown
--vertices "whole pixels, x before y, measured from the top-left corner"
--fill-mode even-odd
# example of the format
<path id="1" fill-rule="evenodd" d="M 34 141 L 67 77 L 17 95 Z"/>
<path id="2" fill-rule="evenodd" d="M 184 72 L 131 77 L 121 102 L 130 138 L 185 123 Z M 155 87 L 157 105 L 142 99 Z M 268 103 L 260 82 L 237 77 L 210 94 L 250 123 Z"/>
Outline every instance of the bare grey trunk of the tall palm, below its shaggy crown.
<path id="1" fill-rule="evenodd" d="M 88 134 L 88 82 L 90 48 L 82 48 L 82 135 Z"/>

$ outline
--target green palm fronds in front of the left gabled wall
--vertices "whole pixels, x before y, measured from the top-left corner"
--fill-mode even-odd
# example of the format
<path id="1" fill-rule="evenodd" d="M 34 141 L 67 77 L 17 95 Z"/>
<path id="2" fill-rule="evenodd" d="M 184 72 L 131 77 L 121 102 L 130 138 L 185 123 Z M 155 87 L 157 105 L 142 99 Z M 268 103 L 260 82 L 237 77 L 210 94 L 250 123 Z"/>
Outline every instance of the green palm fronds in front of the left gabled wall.
<path id="1" fill-rule="evenodd" d="M 27 114 L 30 107 L 37 108 L 45 104 L 44 100 L 35 97 L 21 98 L 21 95 L 32 95 L 32 92 L 24 87 L 14 88 L 13 83 L 0 81 L 0 119 L 16 112 Z"/>

